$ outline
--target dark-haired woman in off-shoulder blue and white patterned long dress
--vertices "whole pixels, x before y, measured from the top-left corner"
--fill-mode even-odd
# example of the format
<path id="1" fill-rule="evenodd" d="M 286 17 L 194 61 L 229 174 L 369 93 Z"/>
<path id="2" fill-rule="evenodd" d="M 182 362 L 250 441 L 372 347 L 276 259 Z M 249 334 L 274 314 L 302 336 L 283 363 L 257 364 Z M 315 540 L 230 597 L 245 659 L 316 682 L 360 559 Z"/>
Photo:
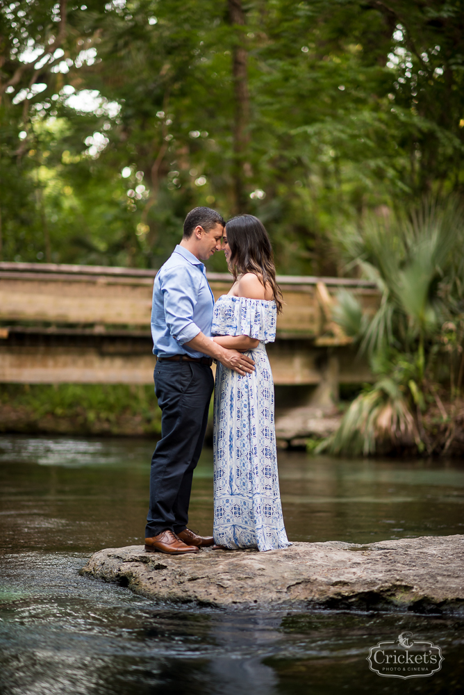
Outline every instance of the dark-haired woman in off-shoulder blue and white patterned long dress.
<path id="1" fill-rule="evenodd" d="M 287 548 L 274 430 L 274 383 L 265 343 L 276 337 L 281 291 L 263 224 L 238 215 L 224 230 L 234 279 L 213 313 L 213 340 L 246 352 L 252 374 L 217 365 L 214 400 L 214 539 L 223 548 Z"/>

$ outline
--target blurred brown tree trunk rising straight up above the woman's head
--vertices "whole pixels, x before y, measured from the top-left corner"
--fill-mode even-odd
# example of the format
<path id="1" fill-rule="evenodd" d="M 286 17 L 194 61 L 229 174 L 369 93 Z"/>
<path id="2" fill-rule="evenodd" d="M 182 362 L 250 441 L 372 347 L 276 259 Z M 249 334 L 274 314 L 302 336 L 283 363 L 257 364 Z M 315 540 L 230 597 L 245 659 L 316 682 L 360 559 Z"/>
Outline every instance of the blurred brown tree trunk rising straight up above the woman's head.
<path id="1" fill-rule="evenodd" d="M 229 22 L 232 26 L 245 26 L 242 0 L 228 0 Z M 247 74 L 247 49 L 242 30 L 236 29 L 232 52 L 233 93 L 235 113 L 233 122 L 233 194 L 235 213 L 247 209 L 245 172 L 249 169 L 247 151 L 249 145 L 249 91 Z"/>

